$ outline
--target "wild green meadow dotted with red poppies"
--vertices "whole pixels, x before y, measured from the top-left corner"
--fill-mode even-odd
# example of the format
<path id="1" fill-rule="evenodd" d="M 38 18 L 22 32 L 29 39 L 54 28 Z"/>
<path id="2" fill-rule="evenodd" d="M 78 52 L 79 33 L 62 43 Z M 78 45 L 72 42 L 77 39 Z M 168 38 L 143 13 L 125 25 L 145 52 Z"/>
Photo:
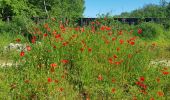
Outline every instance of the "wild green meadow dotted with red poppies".
<path id="1" fill-rule="evenodd" d="M 23 33 L 1 34 L 1 100 L 169 100 L 168 31 L 159 25 L 127 25 L 96 20 L 89 26 L 66 25 L 55 18 Z M 158 31 L 148 32 L 146 25 Z M 154 26 L 155 25 L 155 26 Z M 145 30 L 147 29 L 147 30 Z M 9 43 L 20 51 L 4 52 Z"/>

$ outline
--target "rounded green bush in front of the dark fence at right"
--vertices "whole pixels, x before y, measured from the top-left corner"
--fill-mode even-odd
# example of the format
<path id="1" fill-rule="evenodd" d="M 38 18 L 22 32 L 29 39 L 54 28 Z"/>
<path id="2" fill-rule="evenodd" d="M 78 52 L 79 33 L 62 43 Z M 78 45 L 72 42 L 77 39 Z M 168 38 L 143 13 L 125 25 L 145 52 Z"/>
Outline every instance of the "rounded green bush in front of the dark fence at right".
<path id="1" fill-rule="evenodd" d="M 142 29 L 142 33 L 139 34 L 138 30 Z M 153 22 L 143 22 L 135 27 L 135 35 L 143 39 L 155 39 L 160 34 L 163 34 L 163 26 Z"/>

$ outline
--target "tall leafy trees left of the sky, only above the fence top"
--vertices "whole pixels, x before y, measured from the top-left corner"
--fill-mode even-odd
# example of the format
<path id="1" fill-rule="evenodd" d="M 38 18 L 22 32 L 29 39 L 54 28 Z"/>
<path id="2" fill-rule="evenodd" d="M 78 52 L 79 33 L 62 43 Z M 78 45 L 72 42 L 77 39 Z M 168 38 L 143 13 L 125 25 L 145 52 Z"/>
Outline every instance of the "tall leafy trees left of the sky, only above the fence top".
<path id="1" fill-rule="evenodd" d="M 1 0 L 0 16 L 82 17 L 84 0 Z"/>

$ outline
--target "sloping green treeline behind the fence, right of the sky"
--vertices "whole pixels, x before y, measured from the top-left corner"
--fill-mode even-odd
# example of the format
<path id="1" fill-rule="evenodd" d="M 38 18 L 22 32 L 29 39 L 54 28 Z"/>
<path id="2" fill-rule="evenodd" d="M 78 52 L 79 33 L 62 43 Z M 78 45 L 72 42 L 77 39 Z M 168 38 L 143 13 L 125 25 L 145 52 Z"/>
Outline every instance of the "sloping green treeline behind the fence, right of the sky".
<path id="1" fill-rule="evenodd" d="M 123 12 L 116 17 L 158 17 L 170 18 L 170 3 L 166 0 L 160 0 L 160 4 L 148 4 L 132 12 Z"/>

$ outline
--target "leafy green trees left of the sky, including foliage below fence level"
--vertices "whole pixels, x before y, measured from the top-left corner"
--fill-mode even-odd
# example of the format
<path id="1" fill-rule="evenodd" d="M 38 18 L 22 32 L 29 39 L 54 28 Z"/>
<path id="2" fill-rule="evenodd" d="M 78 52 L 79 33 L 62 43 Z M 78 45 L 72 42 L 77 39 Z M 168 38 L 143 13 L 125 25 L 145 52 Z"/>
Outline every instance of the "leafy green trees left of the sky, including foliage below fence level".
<path id="1" fill-rule="evenodd" d="M 27 32 L 34 17 L 83 17 L 84 0 L 0 0 L 0 33 Z"/>

